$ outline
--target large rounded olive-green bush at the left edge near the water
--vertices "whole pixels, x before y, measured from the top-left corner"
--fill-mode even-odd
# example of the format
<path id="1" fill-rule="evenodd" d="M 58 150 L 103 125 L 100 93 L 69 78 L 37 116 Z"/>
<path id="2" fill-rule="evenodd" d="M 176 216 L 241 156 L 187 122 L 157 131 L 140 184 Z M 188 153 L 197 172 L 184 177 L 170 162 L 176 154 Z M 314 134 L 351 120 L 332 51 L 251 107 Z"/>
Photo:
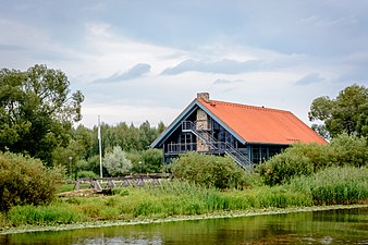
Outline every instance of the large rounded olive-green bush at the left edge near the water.
<path id="1" fill-rule="evenodd" d="M 61 169 L 48 169 L 40 160 L 0 152 L 0 210 L 50 203 L 62 176 Z"/>

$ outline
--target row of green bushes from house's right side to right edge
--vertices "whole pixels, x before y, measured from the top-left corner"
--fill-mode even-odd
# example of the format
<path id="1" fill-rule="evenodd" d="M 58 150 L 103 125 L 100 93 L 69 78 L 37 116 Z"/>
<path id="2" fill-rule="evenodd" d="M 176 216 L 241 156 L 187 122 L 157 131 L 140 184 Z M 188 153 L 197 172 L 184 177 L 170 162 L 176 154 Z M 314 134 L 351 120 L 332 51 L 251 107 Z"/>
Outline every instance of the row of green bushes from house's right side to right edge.
<path id="1" fill-rule="evenodd" d="M 295 144 L 260 164 L 258 170 L 266 184 L 287 183 L 293 176 L 309 175 L 336 166 L 367 166 L 365 137 L 339 135 L 329 145 Z"/>

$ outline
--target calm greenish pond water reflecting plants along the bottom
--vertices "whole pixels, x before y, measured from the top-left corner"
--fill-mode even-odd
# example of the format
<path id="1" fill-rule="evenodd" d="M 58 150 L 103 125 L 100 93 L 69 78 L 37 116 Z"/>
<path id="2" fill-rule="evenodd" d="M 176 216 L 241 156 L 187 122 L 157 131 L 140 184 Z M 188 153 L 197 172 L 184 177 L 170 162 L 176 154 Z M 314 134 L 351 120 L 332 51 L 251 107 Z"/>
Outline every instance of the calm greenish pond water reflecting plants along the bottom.
<path id="1" fill-rule="evenodd" d="M 368 208 L 8 234 L 0 244 L 368 244 Z"/>

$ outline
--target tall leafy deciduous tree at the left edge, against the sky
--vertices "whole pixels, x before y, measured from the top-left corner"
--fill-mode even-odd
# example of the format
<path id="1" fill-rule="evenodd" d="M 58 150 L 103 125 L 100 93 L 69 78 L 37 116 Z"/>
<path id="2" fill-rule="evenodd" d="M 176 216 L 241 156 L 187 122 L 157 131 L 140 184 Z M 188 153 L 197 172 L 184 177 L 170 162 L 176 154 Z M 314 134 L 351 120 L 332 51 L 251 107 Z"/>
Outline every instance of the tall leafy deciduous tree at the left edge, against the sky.
<path id="1" fill-rule="evenodd" d="M 66 75 L 36 64 L 0 71 L 0 150 L 28 154 L 52 164 L 52 149 L 66 146 L 82 119 L 81 91 L 71 94 Z"/>

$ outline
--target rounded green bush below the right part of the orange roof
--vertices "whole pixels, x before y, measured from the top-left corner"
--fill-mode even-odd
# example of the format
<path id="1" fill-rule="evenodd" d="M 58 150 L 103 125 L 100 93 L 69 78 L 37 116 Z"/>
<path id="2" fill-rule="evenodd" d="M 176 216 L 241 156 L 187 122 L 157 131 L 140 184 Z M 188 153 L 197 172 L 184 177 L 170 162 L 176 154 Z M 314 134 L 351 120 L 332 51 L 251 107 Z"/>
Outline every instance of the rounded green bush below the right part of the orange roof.
<path id="1" fill-rule="evenodd" d="M 310 175 L 314 164 L 298 151 L 286 149 L 258 167 L 268 185 L 287 183 L 293 176 Z"/>

